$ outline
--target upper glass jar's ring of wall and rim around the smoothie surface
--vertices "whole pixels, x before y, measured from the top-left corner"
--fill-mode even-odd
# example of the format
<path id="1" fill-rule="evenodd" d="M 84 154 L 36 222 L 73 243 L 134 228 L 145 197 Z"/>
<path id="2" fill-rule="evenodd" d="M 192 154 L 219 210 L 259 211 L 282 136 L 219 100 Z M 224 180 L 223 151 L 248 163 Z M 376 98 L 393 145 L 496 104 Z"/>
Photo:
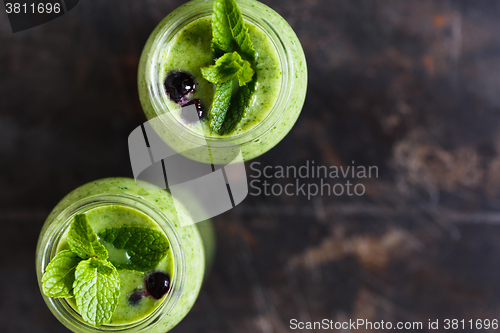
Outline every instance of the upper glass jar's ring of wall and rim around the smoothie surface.
<path id="1" fill-rule="evenodd" d="M 213 3 L 213 0 L 190 1 L 160 22 L 142 52 L 138 88 L 146 117 L 157 118 L 152 126 L 168 145 L 200 162 L 227 164 L 240 150 L 244 160 L 265 153 L 290 131 L 304 104 L 307 66 L 296 34 L 279 14 L 258 1 L 237 0 L 243 19 L 259 28 L 275 47 L 281 67 L 278 97 L 267 116 L 243 133 L 205 136 L 190 129 L 170 112 L 163 62 L 174 36 L 190 23 L 211 16 Z M 208 147 L 210 153 L 199 147 Z"/>

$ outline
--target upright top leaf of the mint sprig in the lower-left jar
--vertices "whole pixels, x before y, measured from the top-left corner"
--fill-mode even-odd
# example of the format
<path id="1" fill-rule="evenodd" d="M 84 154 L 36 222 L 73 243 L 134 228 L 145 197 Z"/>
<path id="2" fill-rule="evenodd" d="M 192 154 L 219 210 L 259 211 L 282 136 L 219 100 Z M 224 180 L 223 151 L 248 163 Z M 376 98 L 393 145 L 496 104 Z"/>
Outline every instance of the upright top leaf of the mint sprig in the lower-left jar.
<path id="1" fill-rule="evenodd" d="M 68 233 L 68 244 L 71 251 L 82 259 L 98 257 L 106 260 L 108 251 L 99 243 L 97 236 L 89 224 L 87 215 L 78 214 L 71 223 Z"/>

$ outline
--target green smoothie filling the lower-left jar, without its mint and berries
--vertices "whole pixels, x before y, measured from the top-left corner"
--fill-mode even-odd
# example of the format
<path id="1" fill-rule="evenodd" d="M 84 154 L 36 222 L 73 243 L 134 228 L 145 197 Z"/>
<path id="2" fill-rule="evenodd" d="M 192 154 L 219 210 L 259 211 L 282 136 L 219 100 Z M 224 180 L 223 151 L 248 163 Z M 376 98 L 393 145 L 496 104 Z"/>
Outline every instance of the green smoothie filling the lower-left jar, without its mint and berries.
<path id="1" fill-rule="evenodd" d="M 171 289 L 160 299 L 144 295 L 138 302 L 131 302 L 131 294 L 144 291 L 145 278 L 151 272 L 118 269 L 118 305 L 111 320 L 97 328 L 79 317 L 73 299 L 47 297 L 42 291 L 49 309 L 62 324 L 74 332 L 99 332 L 105 328 L 110 332 L 164 333 L 187 315 L 200 291 L 205 267 L 213 256 L 215 239 L 209 221 L 186 223 L 189 215 L 182 210 L 182 205 L 176 203 L 168 191 L 151 184 L 140 181 L 136 184 L 129 178 L 107 178 L 85 184 L 57 204 L 42 228 L 36 260 L 41 290 L 48 263 L 68 249 L 68 229 L 75 214 L 85 214 L 97 235 L 120 227 L 146 227 L 161 232 L 168 239 L 169 249 L 152 271 L 168 274 Z M 107 249 L 109 260 L 127 262 L 126 254 L 113 248 L 114 243 L 103 239 L 99 242 Z"/>

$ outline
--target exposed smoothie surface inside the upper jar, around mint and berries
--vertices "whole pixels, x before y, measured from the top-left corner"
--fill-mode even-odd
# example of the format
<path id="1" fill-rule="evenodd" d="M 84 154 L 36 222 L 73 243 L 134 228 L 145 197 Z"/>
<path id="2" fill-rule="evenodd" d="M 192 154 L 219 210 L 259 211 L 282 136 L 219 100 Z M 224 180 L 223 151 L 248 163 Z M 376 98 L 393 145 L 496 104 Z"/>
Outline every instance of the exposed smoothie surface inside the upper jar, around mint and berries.
<path id="1" fill-rule="evenodd" d="M 270 38 L 257 26 L 245 21 L 250 39 L 257 52 L 257 59 L 253 64 L 257 77 L 257 86 L 249 107 L 238 126 L 230 134 L 234 136 L 250 130 L 261 122 L 273 108 L 281 86 L 281 68 L 278 53 Z M 211 49 L 212 18 L 197 19 L 170 41 L 163 55 L 164 77 L 172 71 L 184 71 L 191 74 L 197 82 L 196 91 L 190 98 L 199 98 L 205 114 L 212 105 L 214 84 L 205 80 L 201 74 L 201 67 L 214 64 L 214 55 Z M 195 132 L 205 136 L 219 136 L 212 133 L 206 117 L 202 121 L 187 123 L 181 117 L 181 107 L 168 99 L 168 107 L 175 117 Z"/>

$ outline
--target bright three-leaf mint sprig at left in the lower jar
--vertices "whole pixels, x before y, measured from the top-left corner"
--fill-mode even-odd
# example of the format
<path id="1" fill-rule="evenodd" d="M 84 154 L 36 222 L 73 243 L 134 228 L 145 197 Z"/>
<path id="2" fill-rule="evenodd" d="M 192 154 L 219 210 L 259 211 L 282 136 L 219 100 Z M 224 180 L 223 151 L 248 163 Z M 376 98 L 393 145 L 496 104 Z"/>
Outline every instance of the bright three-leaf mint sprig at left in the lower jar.
<path id="1" fill-rule="evenodd" d="M 70 250 L 59 252 L 42 276 L 43 293 L 49 297 L 75 297 L 87 323 L 100 326 L 109 321 L 118 305 L 120 277 L 106 259 L 85 214 L 75 216 L 68 232 Z"/>

